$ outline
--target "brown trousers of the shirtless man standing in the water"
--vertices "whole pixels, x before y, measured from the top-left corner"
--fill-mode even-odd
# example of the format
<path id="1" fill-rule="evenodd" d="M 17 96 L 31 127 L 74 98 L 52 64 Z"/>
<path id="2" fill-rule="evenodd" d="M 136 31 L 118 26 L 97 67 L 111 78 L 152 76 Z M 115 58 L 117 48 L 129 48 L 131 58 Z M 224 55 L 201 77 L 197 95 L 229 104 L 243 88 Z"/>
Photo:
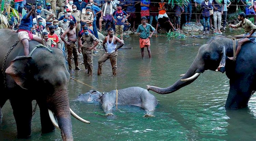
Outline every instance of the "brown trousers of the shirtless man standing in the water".
<path id="1" fill-rule="evenodd" d="M 69 64 L 69 69 L 71 70 L 72 54 L 74 55 L 75 66 L 78 67 L 78 54 L 77 54 L 75 43 L 70 43 L 70 45 L 67 45 L 67 50 L 68 50 L 68 64 Z"/>

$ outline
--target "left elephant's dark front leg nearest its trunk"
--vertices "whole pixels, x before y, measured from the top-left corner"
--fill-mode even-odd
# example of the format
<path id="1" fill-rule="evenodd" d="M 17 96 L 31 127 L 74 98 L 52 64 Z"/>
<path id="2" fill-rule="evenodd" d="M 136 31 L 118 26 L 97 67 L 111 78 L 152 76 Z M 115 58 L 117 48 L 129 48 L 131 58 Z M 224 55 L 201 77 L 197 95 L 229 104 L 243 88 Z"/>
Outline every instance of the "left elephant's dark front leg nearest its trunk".
<path id="1" fill-rule="evenodd" d="M 48 108 L 46 107 L 46 99 L 45 100 L 37 100 L 37 104 L 40 108 L 40 119 L 41 119 L 41 128 L 42 133 L 49 133 L 55 130 L 55 127 L 52 124 L 52 121 L 49 117 Z"/>

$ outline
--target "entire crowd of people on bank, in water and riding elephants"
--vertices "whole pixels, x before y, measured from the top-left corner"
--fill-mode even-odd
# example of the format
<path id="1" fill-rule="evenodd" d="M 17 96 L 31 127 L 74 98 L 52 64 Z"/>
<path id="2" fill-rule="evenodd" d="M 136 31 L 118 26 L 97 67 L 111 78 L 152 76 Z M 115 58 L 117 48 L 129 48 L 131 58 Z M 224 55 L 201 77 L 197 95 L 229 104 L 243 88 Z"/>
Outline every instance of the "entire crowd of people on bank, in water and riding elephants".
<path id="1" fill-rule="evenodd" d="M 185 13 L 185 26 L 190 26 L 192 7 L 196 17 L 196 24 L 202 25 L 200 16 L 203 19 L 204 33 L 209 33 L 210 29 L 214 33 L 221 33 L 221 21 L 223 15 L 223 30 L 226 27 L 227 7 L 231 4 L 229 0 L 189 0 L 183 6 L 175 4 L 174 13 L 170 18 L 167 14 L 170 4 L 164 0 L 161 2 L 150 2 L 150 0 L 37 0 L 37 3 L 25 2 L 25 0 L 15 0 L 15 8 L 18 10 L 20 18 L 19 24 L 14 25 L 13 17 L 9 21 L 10 29 L 18 32 L 18 38 L 24 45 L 24 54 L 29 54 L 29 41 L 35 40 L 46 44 L 45 46 L 59 48 L 67 53 L 67 62 L 70 71 L 73 71 L 71 59 L 74 56 L 75 69 L 81 70 L 78 66 L 78 52 L 82 53 L 85 69 L 87 73 L 93 73 L 93 50 L 97 50 L 99 43 L 98 31 L 102 31 L 102 23 L 108 35 L 103 40 L 105 54 L 98 61 L 98 75 L 102 74 L 102 65 L 110 59 L 113 75 L 117 73 L 117 49 L 124 45 L 123 31 L 131 24 L 134 32 L 139 36 L 141 55 L 144 58 L 144 48 L 147 48 L 148 56 L 151 58 L 150 38 L 157 33 L 159 27 L 166 26 L 173 31 L 181 31 L 181 14 Z M 245 13 L 240 13 L 237 25 L 229 25 L 231 28 L 243 27 L 246 29 L 244 36 L 247 39 L 240 41 L 241 45 L 246 41 L 255 42 L 256 26 L 246 19 L 246 15 L 253 15 L 256 19 L 256 4 L 244 0 Z M 136 19 L 138 6 L 140 8 L 141 20 L 136 29 Z M 22 9 L 27 14 L 21 17 Z M 58 17 L 58 18 L 57 18 Z M 213 17 L 213 27 L 212 27 Z M 155 19 L 156 29 L 151 25 Z M 149 22 L 149 24 L 147 23 Z M 247 27 L 246 27 L 247 26 Z M 150 33 L 150 31 L 152 31 Z M 115 33 L 115 36 L 114 36 Z M 120 39 L 117 37 L 120 35 Z M 120 45 L 117 47 L 117 42 Z M 105 47 L 105 43 L 107 47 Z M 78 46 L 78 48 L 77 48 Z M 77 50 L 78 49 L 78 50 Z M 240 49 L 237 51 L 239 52 Z M 233 59 L 233 58 L 230 58 Z"/>

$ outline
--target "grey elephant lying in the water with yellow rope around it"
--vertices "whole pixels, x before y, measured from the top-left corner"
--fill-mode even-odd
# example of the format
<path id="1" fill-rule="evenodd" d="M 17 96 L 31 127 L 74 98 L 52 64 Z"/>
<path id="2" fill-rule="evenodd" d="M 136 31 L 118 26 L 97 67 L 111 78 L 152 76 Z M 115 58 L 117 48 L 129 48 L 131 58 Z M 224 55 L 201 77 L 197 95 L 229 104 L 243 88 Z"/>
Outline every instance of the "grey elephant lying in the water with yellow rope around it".
<path id="1" fill-rule="evenodd" d="M 116 94 L 117 93 L 117 94 Z M 117 103 L 116 103 L 117 96 Z M 87 93 L 80 94 L 75 101 L 98 101 L 106 115 L 111 115 L 111 109 L 114 105 L 135 105 L 147 111 L 145 117 L 150 117 L 151 112 L 158 104 L 154 95 L 146 89 L 140 87 L 129 87 L 120 90 L 112 90 L 110 92 L 101 93 L 99 91 L 90 90 Z"/>

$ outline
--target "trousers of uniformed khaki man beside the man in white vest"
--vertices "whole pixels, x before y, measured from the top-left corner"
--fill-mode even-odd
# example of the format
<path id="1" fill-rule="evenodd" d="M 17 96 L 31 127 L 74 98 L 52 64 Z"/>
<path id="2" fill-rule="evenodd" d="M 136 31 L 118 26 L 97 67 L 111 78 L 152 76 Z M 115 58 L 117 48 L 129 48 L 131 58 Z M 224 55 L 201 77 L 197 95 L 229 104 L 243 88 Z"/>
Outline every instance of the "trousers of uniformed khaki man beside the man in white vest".
<path id="1" fill-rule="evenodd" d="M 82 47 L 82 54 L 84 58 L 84 67 L 88 68 L 87 74 L 93 76 L 93 52 Z"/>

